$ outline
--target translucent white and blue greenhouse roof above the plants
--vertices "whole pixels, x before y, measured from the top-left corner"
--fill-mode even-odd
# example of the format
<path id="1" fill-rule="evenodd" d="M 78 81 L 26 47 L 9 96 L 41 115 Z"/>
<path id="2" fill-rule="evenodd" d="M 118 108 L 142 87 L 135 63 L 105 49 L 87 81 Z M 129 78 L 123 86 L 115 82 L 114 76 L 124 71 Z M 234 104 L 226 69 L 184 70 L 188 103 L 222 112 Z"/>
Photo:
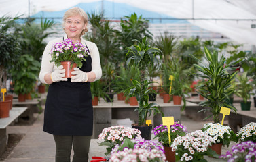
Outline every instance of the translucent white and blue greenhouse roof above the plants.
<path id="1" fill-rule="evenodd" d="M 221 33 L 238 42 L 255 45 L 255 0 L 0 0 L 0 16 L 62 18 L 75 6 L 86 12 L 104 11 L 108 19 L 132 13 L 152 23 L 187 23 Z M 179 20 L 177 20 L 177 19 Z"/>

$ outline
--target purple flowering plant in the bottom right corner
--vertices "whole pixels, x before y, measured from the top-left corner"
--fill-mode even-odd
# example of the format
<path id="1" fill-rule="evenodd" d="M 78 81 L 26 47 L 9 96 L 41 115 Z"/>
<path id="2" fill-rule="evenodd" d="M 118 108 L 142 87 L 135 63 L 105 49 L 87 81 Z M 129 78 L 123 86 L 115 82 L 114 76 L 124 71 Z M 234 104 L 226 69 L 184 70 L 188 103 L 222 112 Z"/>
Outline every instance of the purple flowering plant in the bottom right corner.
<path id="1" fill-rule="evenodd" d="M 228 162 L 255 161 L 256 143 L 246 141 L 236 144 L 232 146 L 231 151 L 227 151 L 219 158 L 227 159 Z"/>

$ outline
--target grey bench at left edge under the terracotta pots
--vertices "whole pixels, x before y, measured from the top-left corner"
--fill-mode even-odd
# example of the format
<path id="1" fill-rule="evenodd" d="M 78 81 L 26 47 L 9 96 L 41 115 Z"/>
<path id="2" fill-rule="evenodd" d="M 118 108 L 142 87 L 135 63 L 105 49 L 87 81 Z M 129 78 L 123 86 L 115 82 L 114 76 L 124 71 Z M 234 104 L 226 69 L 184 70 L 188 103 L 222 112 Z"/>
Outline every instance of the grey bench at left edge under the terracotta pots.
<path id="1" fill-rule="evenodd" d="M 27 107 L 12 107 L 12 110 L 10 110 L 9 113 L 9 117 L 0 118 L 0 156 L 4 153 L 5 146 L 7 145 L 7 126 L 18 119 L 18 117 L 24 113 L 26 109 Z"/>

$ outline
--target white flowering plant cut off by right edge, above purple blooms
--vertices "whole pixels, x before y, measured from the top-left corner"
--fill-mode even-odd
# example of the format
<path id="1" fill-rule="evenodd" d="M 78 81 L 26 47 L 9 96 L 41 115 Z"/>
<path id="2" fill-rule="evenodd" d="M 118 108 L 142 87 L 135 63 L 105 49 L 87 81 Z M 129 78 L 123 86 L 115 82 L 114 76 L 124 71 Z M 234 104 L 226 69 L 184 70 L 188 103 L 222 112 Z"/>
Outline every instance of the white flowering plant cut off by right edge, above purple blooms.
<path id="1" fill-rule="evenodd" d="M 249 140 L 256 142 L 256 123 L 251 122 L 246 124 L 236 133 L 236 136 L 240 142 Z"/>

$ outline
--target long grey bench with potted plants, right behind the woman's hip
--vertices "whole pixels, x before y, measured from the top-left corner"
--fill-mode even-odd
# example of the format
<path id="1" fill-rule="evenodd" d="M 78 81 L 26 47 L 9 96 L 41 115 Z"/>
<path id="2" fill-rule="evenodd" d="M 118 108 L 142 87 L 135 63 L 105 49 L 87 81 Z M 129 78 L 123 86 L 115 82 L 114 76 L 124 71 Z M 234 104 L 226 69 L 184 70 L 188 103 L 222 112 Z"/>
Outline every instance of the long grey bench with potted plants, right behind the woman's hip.
<path id="1" fill-rule="evenodd" d="M 156 101 L 153 101 L 160 105 L 165 116 L 173 116 L 175 121 L 181 119 L 181 107 L 183 105 L 173 105 L 173 103 L 163 103 L 160 97 L 157 97 Z M 187 106 L 195 107 L 198 106 L 195 103 L 187 102 Z M 113 103 L 106 103 L 101 100 L 97 106 L 94 106 L 94 132 L 92 138 L 98 138 L 100 132 L 111 125 L 112 119 L 126 119 L 129 118 L 135 123 L 138 123 L 138 112 L 134 109 L 138 106 L 131 106 L 130 104 L 124 103 L 114 98 Z M 162 124 L 162 116 L 160 114 L 153 117 L 148 117 L 152 120 L 153 126 Z"/>

